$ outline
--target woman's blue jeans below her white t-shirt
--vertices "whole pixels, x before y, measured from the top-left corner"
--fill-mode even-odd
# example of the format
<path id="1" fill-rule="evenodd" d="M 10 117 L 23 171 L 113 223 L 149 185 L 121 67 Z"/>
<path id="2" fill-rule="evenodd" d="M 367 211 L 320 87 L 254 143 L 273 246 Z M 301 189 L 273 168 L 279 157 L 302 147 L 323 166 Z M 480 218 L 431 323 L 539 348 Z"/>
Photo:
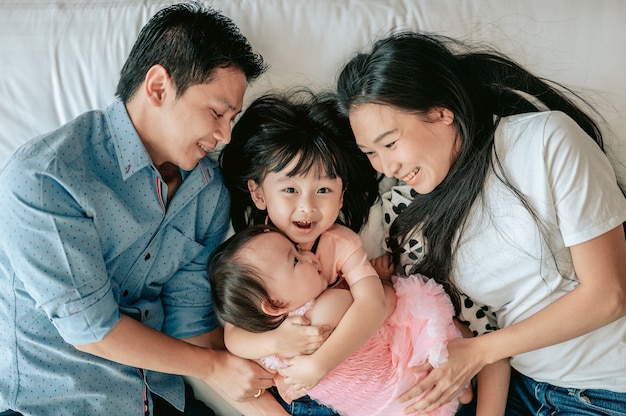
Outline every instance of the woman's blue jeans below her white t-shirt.
<path id="1" fill-rule="evenodd" d="M 507 416 L 626 416 L 626 393 L 540 383 L 512 370 Z"/>

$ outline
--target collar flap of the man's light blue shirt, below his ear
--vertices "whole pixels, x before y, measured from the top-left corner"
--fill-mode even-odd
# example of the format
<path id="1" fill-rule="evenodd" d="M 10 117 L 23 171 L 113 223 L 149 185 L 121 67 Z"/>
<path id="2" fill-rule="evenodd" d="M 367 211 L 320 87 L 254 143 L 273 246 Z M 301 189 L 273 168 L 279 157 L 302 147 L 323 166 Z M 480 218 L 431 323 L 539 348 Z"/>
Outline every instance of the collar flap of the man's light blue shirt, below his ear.
<path id="1" fill-rule="evenodd" d="M 107 117 L 111 127 L 111 137 L 117 152 L 117 162 L 124 180 L 146 166 L 152 165 L 152 159 L 148 155 L 143 142 L 133 126 L 126 106 L 122 100 L 115 100 L 107 108 Z"/>

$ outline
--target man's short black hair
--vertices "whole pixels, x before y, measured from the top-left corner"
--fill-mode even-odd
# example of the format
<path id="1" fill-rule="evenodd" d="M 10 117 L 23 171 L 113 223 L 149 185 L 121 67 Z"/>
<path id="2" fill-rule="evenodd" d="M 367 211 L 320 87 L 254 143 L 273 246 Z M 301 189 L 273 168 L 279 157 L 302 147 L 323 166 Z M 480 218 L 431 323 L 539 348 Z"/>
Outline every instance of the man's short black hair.
<path id="1" fill-rule="evenodd" d="M 195 1 L 161 9 L 146 23 L 122 67 L 116 95 L 128 102 L 157 64 L 169 73 L 177 96 L 210 82 L 217 68 L 239 69 L 248 82 L 266 70 L 232 20 Z"/>

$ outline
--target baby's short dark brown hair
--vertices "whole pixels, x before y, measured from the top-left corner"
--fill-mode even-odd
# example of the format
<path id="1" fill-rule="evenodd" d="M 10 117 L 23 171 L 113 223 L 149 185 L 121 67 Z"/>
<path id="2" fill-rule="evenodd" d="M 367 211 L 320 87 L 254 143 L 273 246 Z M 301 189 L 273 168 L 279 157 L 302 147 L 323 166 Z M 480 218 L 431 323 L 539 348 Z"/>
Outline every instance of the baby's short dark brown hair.
<path id="1" fill-rule="evenodd" d="M 262 271 L 241 255 L 241 250 L 250 241 L 266 232 L 283 234 L 270 225 L 244 228 L 213 251 L 207 266 L 215 311 L 223 321 L 248 332 L 275 329 L 286 318 L 285 315 L 273 316 L 263 311 L 262 302 L 277 307 L 284 305 L 275 304 L 263 285 Z"/>

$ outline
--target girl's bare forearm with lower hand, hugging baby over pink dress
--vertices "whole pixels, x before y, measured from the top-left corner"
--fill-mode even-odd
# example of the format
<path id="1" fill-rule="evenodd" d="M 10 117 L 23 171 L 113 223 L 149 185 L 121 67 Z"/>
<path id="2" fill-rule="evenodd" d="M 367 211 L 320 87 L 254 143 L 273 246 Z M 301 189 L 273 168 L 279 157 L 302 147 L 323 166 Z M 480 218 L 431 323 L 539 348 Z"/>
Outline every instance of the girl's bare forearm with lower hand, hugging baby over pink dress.
<path id="1" fill-rule="evenodd" d="M 328 337 L 312 355 L 288 360 L 279 370 L 294 390 L 311 389 L 332 369 L 365 344 L 393 310 L 381 280 L 376 275 L 364 277 L 350 286 L 353 303 Z M 395 300 L 395 294 L 394 294 Z"/>

